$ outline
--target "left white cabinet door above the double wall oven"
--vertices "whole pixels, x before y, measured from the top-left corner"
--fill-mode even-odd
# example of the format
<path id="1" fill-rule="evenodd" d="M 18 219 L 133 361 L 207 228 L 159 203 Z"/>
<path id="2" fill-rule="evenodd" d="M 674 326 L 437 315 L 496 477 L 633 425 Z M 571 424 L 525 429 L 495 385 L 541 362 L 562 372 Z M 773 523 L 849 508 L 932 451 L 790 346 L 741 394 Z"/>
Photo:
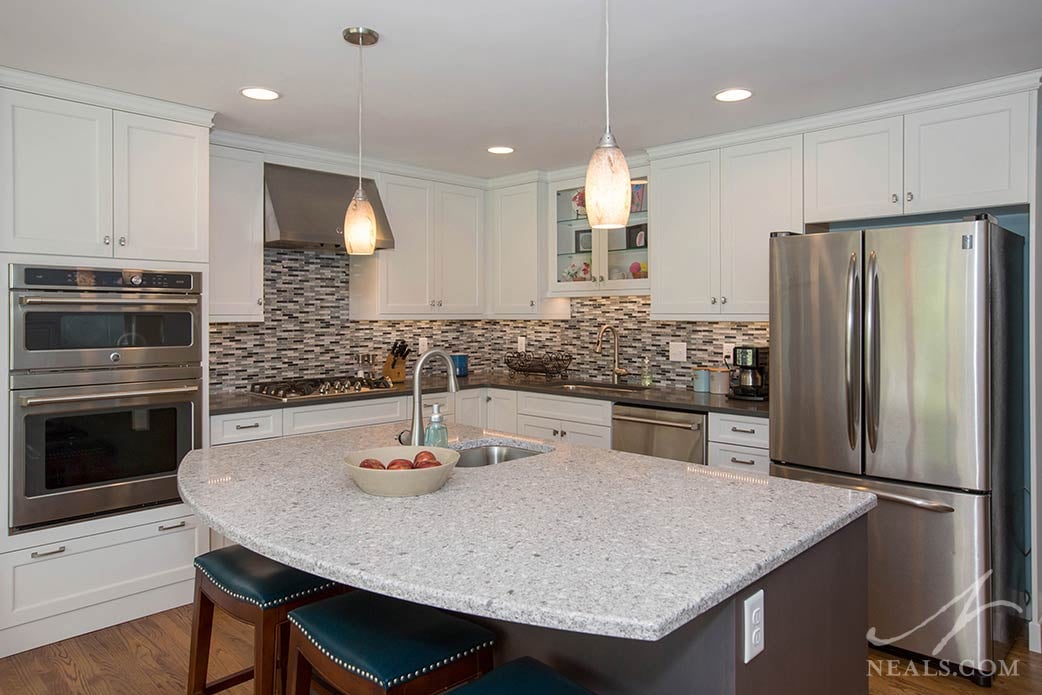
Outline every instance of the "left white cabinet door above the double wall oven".
<path id="1" fill-rule="evenodd" d="M 0 90 L 0 250 L 110 256 L 113 111 Z"/>

